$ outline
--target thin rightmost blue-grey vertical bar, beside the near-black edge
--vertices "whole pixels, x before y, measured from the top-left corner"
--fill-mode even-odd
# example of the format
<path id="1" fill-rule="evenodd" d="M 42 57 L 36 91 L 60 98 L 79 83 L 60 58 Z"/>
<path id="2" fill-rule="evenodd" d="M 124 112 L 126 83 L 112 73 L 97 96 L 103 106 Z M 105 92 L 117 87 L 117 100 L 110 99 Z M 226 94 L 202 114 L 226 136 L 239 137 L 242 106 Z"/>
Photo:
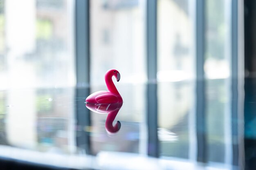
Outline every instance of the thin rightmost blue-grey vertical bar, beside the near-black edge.
<path id="1" fill-rule="evenodd" d="M 231 1 L 231 116 L 234 166 L 238 166 L 238 1 Z"/>

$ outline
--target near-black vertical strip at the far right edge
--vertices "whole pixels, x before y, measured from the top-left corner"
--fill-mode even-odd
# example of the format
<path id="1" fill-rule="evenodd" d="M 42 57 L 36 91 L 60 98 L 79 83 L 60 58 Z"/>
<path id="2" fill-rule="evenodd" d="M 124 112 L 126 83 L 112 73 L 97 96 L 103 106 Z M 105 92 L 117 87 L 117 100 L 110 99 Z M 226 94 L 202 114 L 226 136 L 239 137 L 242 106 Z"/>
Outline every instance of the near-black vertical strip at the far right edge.
<path id="1" fill-rule="evenodd" d="M 245 170 L 256 167 L 256 1 L 244 0 L 245 26 Z"/>

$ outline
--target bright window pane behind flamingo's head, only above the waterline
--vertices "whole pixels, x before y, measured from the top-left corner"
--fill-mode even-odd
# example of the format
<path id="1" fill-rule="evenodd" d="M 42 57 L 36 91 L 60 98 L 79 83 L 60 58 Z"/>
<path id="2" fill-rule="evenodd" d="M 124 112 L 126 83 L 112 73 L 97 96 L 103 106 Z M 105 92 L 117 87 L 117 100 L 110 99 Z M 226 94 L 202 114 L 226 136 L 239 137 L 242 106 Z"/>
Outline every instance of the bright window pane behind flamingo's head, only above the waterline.
<path id="1" fill-rule="evenodd" d="M 142 2 L 90 1 L 90 84 L 105 84 L 103 77 L 111 68 L 121 73 L 120 83 L 146 81 L 146 33 Z"/>

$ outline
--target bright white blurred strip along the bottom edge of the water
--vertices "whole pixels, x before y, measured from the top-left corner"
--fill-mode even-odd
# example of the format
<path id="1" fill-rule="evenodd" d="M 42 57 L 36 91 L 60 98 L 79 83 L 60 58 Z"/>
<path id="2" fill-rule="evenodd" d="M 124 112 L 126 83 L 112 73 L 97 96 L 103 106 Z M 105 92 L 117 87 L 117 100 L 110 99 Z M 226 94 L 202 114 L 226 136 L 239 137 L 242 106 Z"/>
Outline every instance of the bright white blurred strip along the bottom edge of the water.
<path id="1" fill-rule="evenodd" d="M 200 164 L 187 159 L 175 157 L 161 157 L 160 159 L 146 157 L 135 153 L 126 152 L 99 152 L 94 156 L 67 155 L 51 152 L 38 152 L 0 146 L 0 157 L 40 163 L 50 166 L 97 169 L 97 170 L 233 170 L 232 167 L 222 163 Z"/>

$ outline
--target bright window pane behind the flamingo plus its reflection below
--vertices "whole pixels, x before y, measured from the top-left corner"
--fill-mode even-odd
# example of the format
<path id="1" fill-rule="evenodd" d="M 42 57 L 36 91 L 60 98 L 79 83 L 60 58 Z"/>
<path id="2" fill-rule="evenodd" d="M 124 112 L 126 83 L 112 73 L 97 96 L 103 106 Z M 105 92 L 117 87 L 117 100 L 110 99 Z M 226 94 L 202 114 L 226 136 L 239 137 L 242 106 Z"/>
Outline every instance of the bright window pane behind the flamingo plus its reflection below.
<path id="1" fill-rule="evenodd" d="M 115 138 L 106 133 L 107 115 L 91 112 L 92 126 L 97 129 L 91 137 L 93 154 L 101 150 L 141 152 L 144 139 L 139 138 L 145 133 L 141 127 L 146 114 L 146 23 L 142 2 L 90 0 L 90 91 L 107 90 L 104 75 L 115 68 L 121 79 L 120 82 L 113 80 L 124 100 L 115 118 L 115 122 L 121 121 Z M 146 144 L 143 147 L 146 148 Z"/>

